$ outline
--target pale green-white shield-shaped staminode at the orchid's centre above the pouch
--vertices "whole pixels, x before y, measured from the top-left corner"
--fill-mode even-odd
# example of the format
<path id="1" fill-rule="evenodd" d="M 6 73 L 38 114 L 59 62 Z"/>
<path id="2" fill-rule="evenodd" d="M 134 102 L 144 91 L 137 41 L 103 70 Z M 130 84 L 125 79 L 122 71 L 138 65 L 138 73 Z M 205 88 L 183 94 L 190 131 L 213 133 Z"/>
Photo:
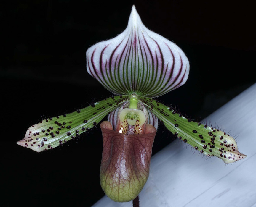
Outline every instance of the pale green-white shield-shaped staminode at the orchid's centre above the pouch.
<path id="1" fill-rule="evenodd" d="M 146 116 L 139 109 L 123 109 L 119 114 L 119 119 L 121 122 L 127 119 L 129 125 L 135 125 L 136 121 L 139 120 L 139 124 L 142 126 L 146 121 Z"/>

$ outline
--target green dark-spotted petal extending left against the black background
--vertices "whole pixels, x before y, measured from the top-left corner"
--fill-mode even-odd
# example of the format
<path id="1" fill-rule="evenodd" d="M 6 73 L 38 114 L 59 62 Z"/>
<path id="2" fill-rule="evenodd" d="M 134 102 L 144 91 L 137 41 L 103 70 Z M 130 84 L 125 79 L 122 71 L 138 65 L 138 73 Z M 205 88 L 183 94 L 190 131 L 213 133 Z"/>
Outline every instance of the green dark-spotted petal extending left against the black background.
<path id="1" fill-rule="evenodd" d="M 97 125 L 129 96 L 112 96 L 70 114 L 44 119 L 28 128 L 18 145 L 40 152 L 53 149 Z"/>

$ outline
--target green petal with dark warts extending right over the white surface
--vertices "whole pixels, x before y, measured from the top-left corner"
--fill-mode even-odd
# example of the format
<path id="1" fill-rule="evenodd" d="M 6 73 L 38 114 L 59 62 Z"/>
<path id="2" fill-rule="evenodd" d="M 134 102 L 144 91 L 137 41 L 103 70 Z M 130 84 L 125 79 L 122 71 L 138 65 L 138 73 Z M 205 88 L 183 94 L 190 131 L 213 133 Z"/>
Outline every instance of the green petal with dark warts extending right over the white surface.
<path id="1" fill-rule="evenodd" d="M 154 99 L 142 96 L 137 98 L 163 122 L 168 130 L 201 153 L 209 157 L 217 156 L 225 163 L 247 157 L 238 151 L 234 138 L 225 132 L 186 119 Z"/>

